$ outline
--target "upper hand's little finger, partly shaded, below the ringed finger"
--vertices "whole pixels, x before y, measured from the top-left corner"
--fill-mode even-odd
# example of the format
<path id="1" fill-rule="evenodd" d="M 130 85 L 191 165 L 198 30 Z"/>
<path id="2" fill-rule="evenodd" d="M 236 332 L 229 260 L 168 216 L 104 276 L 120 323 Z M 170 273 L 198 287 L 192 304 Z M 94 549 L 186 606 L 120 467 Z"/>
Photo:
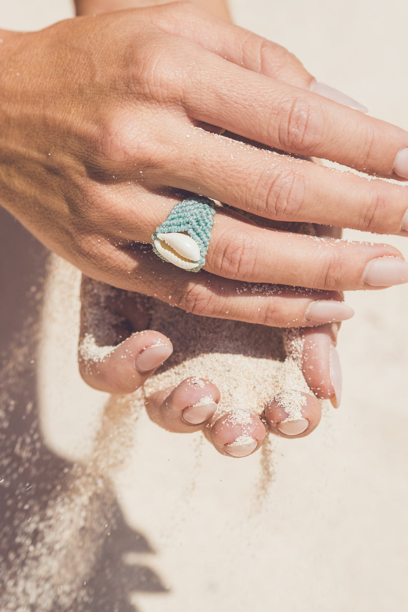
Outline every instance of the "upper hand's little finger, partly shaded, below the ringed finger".
<path id="1" fill-rule="evenodd" d="M 121 276 L 122 269 L 128 274 Z M 343 321 L 353 315 L 336 291 L 242 283 L 204 270 L 193 275 L 161 261 L 146 245 L 130 245 L 119 253 L 106 275 L 112 276 L 112 282 L 123 283 L 125 289 L 157 297 L 201 316 L 273 327 L 302 327 Z"/>

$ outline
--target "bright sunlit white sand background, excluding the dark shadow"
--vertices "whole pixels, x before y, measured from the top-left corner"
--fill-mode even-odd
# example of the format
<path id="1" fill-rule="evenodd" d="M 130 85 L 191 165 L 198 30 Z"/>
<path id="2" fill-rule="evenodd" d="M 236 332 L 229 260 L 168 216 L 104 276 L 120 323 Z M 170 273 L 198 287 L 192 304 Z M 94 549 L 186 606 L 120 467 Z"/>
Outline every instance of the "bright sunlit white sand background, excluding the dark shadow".
<path id="1" fill-rule="evenodd" d="M 50 0 L 36 3 L 39 26 L 46 23 L 40 9 L 51 5 L 53 18 L 57 18 L 56 4 Z M 319 80 L 366 103 L 371 114 L 408 129 L 404 79 L 407 6 L 396 0 L 387 4 L 294 0 L 289 15 L 287 5 L 269 0 L 234 0 L 232 4 L 239 23 L 289 47 Z M 6 16 L 2 15 L 3 23 L 8 25 L 8 17 L 10 27 L 18 28 L 26 16 L 31 18 L 32 8 L 28 0 L 15 2 L 7 7 Z M 347 232 L 347 237 L 356 235 L 362 237 Z M 391 237 L 387 241 L 408 258 L 404 239 Z M 4 253 L 1 261 L 6 257 Z M 56 274 L 61 280 L 61 269 Z M 120 612 L 130 612 L 126 602 L 131 599 L 139 612 L 405 611 L 407 288 L 347 296 L 357 314 L 344 324 L 339 339 L 344 373 L 342 406 L 325 414 L 310 438 L 269 442 L 264 455 L 273 453 L 275 480 L 259 509 L 262 457 L 228 460 L 201 442 L 201 436 L 166 433 L 144 416 L 137 425 L 129 423 L 115 407 L 107 414 L 117 414 L 117 421 L 111 424 L 113 436 L 118 433 L 123 439 L 124 430 L 128 433 L 123 445 L 125 457 L 121 457 L 126 463 L 119 461 L 118 465 L 109 458 L 101 442 L 101 434 L 106 438 L 106 417 L 101 418 L 105 396 L 87 389 L 76 372 L 75 278 L 72 274 L 63 297 L 56 291 L 55 277 L 48 283 L 38 367 L 42 435 L 64 460 L 83 461 L 88 466 L 85 474 L 89 474 L 87 458 L 93 448 L 92 478 L 97 471 L 113 476 L 114 493 L 127 525 L 150 543 L 150 548 L 137 547 L 130 532 L 122 529 L 128 547 L 123 544 L 122 553 L 113 557 L 111 569 L 116 573 L 110 581 L 105 580 L 109 592 L 116 585 L 114 599 L 105 594 L 108 603 L 98 600 L 87 609 L 112 612 L 114 602 L 120 601 Z M 1 306 L 9 304 L 6 300 Z M 24 367 L 29 373 L 32 359 L 32 352 L 20 359 L 23 388 L 29 384 Z M 18 395 L 20 389 L 15 392 Z M 4 398 L 4 387 L 2 394 Z M 31 406 L 34 400 L 28 400 Z M 21 444 L 17 450 L 16 457 L 23 465 L 29 458 Z M 50 454 L 47 461 L 40 476 L 46 477 L 50 463 L 57 459 Z M 26 488 L 35 485 L 41 491 L 40 476 L 27 482 Z M 57 487 L 51 493 L 53 499 L 66 499 Z M 78 515 L 84 509 L 81 504 L 68 507 Z M 24 515 L 21 507 L 19 512 L 25 517 L 21 521 L 29 525 L 28 511 Z M 79 520 L 76 526 L 80 526 Z M 89 530 L 86 534 L 89 536 Z M 70 532 L 69 545 L 78 553 L 76 558 L 92 558 L 98 537 L 84 537 L 78 529 Z M 45 530 L 45 540 L 52 548 L 52 531 Z M 35 559 L 35 549 L 29 559 Z M 55 564 L 49 561 L 45 555 L 39 560 L 39 575 L 54 569 L 54 578 L 58 577 Z M 144 592 L 146 574 L 137 570 L 138 565 L 149 567 L 160 578 L 161 587 L 169 590 L 160 592 L 156 586 Z M 71 562 L 69 569 L 70 576 L 76 578 L 86 572 L 79 563 Z M 147 582 L 152 584 L 150 578 Z M 72 584 L 72 591 L 81 588 L 80 581 Z M 43 583 L 26 586 L 44 591 Z M 55 588 L 59 588 L 57 579 Z M 66 588 L 62 591 L 67 593 Z M 66 597 L 69 602 L 75 594 Z M 80 607 L 65 605 L 64 612 L 74 611 L 80 612 Z"/>

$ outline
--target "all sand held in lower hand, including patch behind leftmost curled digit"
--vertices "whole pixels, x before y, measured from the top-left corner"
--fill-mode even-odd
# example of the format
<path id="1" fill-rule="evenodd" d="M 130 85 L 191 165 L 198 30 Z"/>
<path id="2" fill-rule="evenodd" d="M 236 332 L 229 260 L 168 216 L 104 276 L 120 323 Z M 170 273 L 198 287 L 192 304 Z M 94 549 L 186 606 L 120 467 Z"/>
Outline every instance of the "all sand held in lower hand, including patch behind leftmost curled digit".
<path id="1" fill-rule="evenodd" d="M 86 333 L 80 355 L 90 364 L 103 360 L 114 349 L 109 343 L 121 320 L 106 308 L 106 300 L 119 300 L 121 294 L 104 283 L 89 282 L 86 286 Z M 262 293 L 260 286 L 258 291 Z M 270 291 L 270 286 L 265 285 L 265 291 Z M 267 402 L 282 391 L 286 394 L 281 395 L 281 405 L 287 405 L 289 412 L 293 412 L 290 392 L 309 392 L 301 370 L 302 338 L 297 329 L 202 318 L 154 298 L 127 295 L 138 310 L 148 313 L 147 328 L 165 334 L 173 345 L 172 355 L 144 384 L 146 397 L 187 378 L 207 378 L 221 392 L 217 416 L 231 411 L 261 415 Z"/>

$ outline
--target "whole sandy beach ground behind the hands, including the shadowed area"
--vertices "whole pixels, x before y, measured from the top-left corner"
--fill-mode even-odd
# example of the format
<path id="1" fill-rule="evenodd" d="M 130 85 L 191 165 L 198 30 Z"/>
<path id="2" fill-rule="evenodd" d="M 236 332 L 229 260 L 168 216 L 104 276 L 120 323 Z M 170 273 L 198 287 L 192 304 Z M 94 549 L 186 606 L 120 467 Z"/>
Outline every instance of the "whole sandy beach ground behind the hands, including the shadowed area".
<path id="1" fill-rule="evenodd" d="M 4 28 L 72 14 L 67 0 L 0 2 Z M 231 6 L 317 80 L 408 129 L 408 4 Z M 406 239 L 386 241 L 408 259 Z M 339 335 L 337 411 L 325 406 L 307 438 L 270 436 L 256 455 L 229 460 L 201 435 L 160 430 L 86 387 L 78 273 L 53 257 L 46 274 L 45 249 L 3 211 L 0 250 L 10 358 L 0 487 L 15 488 L 7 567 L 19 572 L 6 612 L 407 610 L 407 286 L 347 294 L 355 316 Z"/>

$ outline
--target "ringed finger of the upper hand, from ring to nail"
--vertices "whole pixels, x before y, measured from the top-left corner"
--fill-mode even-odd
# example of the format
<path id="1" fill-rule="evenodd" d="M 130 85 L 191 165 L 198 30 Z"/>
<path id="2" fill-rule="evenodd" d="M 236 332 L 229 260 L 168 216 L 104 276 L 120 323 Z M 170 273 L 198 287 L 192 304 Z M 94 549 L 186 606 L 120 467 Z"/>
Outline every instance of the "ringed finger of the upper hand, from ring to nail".
<path id="1" fill-rule="evenodd" d="M 205 266 L 212 274 L 336 291 L 408 282 L 408 263 L 389 245 L 259 228 L 221 213 L 214 218 Z"/>

